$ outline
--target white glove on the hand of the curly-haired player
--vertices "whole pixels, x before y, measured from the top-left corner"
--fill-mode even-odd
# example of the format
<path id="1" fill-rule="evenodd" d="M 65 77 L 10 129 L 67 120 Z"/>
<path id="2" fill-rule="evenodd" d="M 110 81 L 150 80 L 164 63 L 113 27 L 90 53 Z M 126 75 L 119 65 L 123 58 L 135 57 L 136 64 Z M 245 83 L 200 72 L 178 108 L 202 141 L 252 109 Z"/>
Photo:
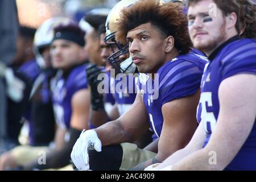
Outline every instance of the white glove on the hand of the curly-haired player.
<path id="1" fill-rule="evenodd" d="M 88 150 L 101 152 L 101 141 L 94 130 L 82 130 L 71 152 L 71 159 L 79 170 L 89 169 Z"/>

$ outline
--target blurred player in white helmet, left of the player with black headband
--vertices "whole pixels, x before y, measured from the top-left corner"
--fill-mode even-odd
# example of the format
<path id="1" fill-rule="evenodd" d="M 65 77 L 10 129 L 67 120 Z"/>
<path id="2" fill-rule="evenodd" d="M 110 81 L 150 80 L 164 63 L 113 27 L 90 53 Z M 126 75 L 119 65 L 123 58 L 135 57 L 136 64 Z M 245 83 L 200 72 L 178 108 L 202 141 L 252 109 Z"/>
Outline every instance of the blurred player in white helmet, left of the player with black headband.
<path id="1" fill-rule="evenodd" d="M 31 105 L 29 113 L 31 115 L 27 115 L 31 117 L 31 120 L 28 129 L 29 141 L 26 144 L 30 144 L 31 146 L 48 146 L 55 134 L 55 119 L 52 111 L 51 93 L 49 93 L 49 77 L 52 77 L 52 73 L 48 72 L 51 70 L 51 64 L 49 64 L 49 46 L 53 38 L 54 23 L 56 23 L 56 18 L 49 19 L 36 31 L 33 51 L 36 55 L 36 63 L 38 64 L 35 65 L 34 61 L 31 61 L 31 69 L 24 69 L 24 72 L 30 71 L 27 75 L 33 76 L 34 73 L 31 73 L 34 72 L 33 67 L 36 67 L 36 70 L 38 67 L 40 68 L 40 75 L 36 77 L 36 80 L 34 80 L 35 76 L 31 76 L 30 80 L 30 82 L 34 82 L 34 85 L 29 97 Z M 27 28 L 23 29 L 26 30 Z M 28 30 L 30 29 L 28 28 Z M 31 33 L 26 32 L 23 34 L 30 35 Z M 22 47 L 22 44 L 20 44 L 20 47 Z M 16 56 L 16 59 L 18 57 Z M 15 65 L 18 64 L 16 63 Z M 45 131 L 48 132 L 46 133 Z M 27 151 L 29 150 L 30 148 L 28 146 L 20 146 L 15 148 L 15 150 L 5 153 L 0 158 L 0 169 L 3 170 L 5 166 L 13 166 L 11 163 L 16 163 L 15 160 L 20 161 L 25 158 L 24 161 L 26 161 L 26 156 L 29 155 Z"/>

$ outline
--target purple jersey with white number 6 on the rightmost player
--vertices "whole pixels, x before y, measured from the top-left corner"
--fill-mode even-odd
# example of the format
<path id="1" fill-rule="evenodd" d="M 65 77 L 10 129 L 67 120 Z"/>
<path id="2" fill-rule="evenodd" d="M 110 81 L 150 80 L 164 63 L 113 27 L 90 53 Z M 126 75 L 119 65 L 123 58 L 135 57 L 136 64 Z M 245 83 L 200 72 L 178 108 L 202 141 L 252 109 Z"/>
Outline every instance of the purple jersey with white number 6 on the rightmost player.
<path id="1" fill-rule="evenodd" d="M 224 43 L 214 53 L 214 57 L 210 56 L 209 59 L 212 61 L 205 67 L 200 104 L 197 107 L 197 121 L 201 122 L 204 118 L 207 134 L 203 147 L 207 145 L 216 126 L 220 111 L 218 88 L 221 82 L 239 73 L 256 74 L 256 40 L 234 37 Z M 241 150 L 226 169 L 256 170 L 256 122 Z"/>

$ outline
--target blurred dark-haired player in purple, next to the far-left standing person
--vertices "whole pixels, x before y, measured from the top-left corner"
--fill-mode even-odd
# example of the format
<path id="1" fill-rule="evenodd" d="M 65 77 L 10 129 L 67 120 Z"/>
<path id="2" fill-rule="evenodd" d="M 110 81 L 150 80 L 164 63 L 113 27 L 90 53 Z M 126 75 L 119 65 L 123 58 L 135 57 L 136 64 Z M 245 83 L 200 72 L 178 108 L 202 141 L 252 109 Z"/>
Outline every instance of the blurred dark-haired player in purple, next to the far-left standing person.
<path id="1" fill-rule="evenodd" d="M 36 64 L 33 53 L 35 31 L 35 28 L 19 26 L 18 38 L 16 40 L 16 53 L 13 60 L 11 60 L 9 64 L 9 67 L 14 71 L 14 75 L 20 77 L 20 79 L 24 81 L 24 84 L 28 89 L 28 95 L 30 94 L 35 78 L 39 75 L 39 67 Z M 14 146 L 17 146 L 19 144 L 18 136 L 23 124 L 31 124 L 30 109 L 31 107 L 27 98 L 26 100 L 23 100 L 23 104 L 8 98 L 7 133 L 12 138 L 9 141 L 10 144 L 15 143 Z M 20 118 L 20 114 L 22 114 L 22 118 Z"/>

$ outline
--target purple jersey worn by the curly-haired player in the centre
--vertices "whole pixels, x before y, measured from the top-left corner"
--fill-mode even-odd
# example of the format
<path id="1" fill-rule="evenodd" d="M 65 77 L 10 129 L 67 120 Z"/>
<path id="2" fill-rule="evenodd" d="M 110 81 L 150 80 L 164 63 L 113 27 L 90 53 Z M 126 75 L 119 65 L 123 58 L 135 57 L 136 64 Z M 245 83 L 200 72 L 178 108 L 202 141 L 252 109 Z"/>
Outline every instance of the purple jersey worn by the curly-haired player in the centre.
<path id="1" fill-rule="evenodd" d="M 160 137 L 163 127 L 162 106 L 196 93 L 200 88 L 206 63 L 207 59 L 188 53 L 164 64 L 156 73 L 154 81 L 144 73 L 139 75 L 142 100 L 147 109 L 151 130 L 156 137 Z"/>

